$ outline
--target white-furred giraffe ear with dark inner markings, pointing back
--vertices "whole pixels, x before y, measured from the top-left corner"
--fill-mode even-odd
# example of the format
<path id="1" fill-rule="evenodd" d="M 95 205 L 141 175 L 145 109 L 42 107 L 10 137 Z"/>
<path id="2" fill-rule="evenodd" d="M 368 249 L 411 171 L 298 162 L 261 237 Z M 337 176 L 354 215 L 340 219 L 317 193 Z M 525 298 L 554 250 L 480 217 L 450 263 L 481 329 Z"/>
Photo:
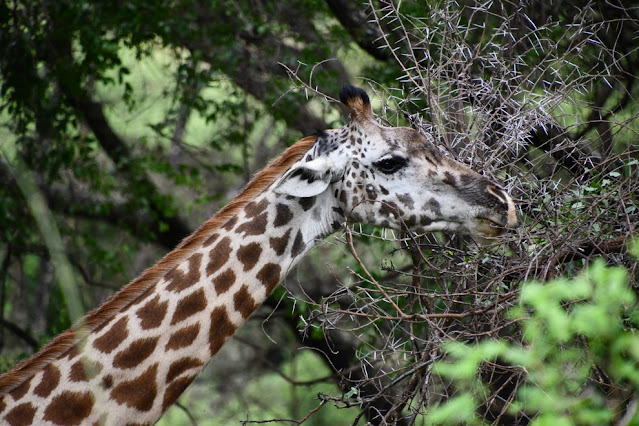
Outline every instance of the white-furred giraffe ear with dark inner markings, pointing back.
<path id="1" fill-rule="evenodd" d="M 314 197 L 324 192 L 333 176 L 332 163 L 325 157 L 297 163 L 275 184 L 275 192 L 294 197 Z"/>

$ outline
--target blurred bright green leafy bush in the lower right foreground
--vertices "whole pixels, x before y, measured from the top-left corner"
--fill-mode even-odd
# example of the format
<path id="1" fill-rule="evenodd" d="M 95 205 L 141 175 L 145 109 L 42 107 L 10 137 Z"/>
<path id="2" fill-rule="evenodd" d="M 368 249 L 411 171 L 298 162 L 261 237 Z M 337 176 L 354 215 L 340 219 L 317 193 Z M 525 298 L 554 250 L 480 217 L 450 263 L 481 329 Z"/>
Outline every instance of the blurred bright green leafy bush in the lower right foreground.
<path id="1" fill-rule="evenodd" d="M 535 425 L 639 422 L 639 313 L 624 268 L 600 260 L 572 279 L 527 283 L 508 315 L 521 324 L 520 342 L 445 344 L 450 356 L 434 371 L 453 380 L 457 395 L 431 409 L 432 423 L 481 423 L 490 390 L 480 370 L 497 359 L 525 375 L 512 415 L 526 413 Z"/>

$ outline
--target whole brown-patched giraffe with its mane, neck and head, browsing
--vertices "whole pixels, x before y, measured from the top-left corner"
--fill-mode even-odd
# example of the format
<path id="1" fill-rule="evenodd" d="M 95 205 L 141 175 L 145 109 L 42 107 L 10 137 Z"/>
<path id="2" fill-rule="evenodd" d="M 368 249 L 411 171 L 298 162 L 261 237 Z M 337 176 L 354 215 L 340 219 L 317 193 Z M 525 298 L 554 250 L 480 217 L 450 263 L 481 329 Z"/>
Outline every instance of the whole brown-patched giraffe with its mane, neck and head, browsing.
<path id="1" fill-rule="evenodd" d="M 292 145 L 156 265 L 2 375 L 0 421 L 153 424 L 346 223 L 477 238 L 516 226 L 498 185 L 416 130 L 379 124 L 364 90 L 344 85 L 340 100 L 344 127 Z"/>

